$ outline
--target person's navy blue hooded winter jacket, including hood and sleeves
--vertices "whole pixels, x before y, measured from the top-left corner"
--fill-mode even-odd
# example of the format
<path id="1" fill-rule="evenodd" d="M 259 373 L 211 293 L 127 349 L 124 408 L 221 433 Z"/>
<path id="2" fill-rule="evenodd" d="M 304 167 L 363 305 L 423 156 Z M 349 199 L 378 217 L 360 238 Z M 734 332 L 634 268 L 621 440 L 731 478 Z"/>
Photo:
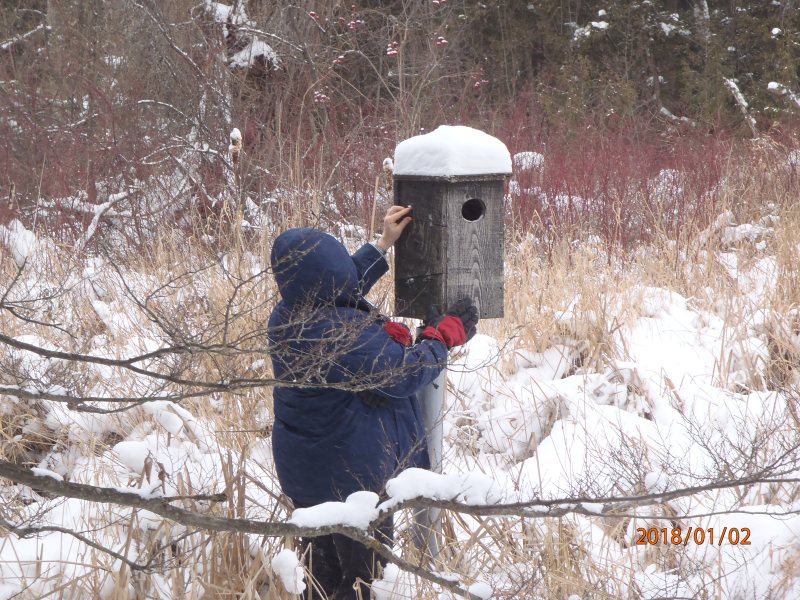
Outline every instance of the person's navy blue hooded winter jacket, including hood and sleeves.
<path id="1" fill-rule="evenodd" d="M 416 392 L 447 359 L 445 345 L 407 348 L 362 300 L 388 270 L 371 244 L 350 256 L 332 236 L 290 229 L 275 240 L 282 300 L 269 320 L 275 377 L 272 447 L 278 479 L 296 505 L 380 493 L 407 467 L 430 466 Z M 335 387 L 334 387 L 335 386 Z M 366 404 L 368 389 L 385 401 Z"/>

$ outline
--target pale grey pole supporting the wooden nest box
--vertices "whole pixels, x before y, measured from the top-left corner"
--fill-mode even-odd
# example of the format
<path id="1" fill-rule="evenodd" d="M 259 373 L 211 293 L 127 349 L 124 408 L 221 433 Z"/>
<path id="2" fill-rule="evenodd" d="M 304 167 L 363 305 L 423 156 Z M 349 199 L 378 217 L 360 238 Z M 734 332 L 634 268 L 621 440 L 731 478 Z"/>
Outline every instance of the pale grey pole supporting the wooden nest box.
<path id="1" fill-rule="evenodd" d="M 444 392 L 446 369 L 419 392 L 422 420 L 428 441 L 428 455 L 431 471 L 442 472 L 442 448 L 444 445 Z M 442 533 L 441 510 L 438 508 L 420 509 L 414 513 L 414 544 L 420 550 L 427 548 L 428 555 L 436 558 L 439 554 L 439 538 Z"/>

